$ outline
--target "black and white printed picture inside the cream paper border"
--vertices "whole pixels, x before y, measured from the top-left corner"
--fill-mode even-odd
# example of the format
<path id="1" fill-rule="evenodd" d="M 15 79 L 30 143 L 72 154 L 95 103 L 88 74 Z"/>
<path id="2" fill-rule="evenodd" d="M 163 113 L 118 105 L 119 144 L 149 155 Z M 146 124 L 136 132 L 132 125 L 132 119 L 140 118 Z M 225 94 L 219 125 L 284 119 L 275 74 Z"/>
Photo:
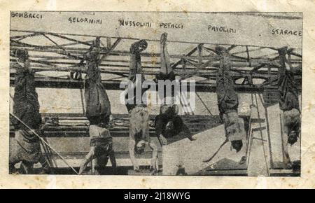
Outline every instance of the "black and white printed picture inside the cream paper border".
<path id="1" fill-rule="evenodd" d="M 9 174 L 301 176 L 303 13 L 9 15 Z"/>

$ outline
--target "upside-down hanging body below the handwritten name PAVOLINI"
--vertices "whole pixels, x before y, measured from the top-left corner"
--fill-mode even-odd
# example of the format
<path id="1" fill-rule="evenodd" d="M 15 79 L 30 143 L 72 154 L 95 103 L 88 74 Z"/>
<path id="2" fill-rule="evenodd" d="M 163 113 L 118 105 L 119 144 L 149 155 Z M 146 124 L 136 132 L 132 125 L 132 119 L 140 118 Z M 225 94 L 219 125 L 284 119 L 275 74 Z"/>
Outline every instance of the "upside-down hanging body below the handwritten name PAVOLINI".
<path id="1" fill-rule="evenodd" d="M 244 122 L 239 118 L 237 109 L 239 100 L 234 90 L 234 81 L 231 76 L 231 62 L 228 51 L 223 47 L 216 47 L 216 52 L 221 56 L 220 67 L 216 79 L 216 94 L 220 117 L 225 125 L 225 136 L 231 142 L 232 148 L 237 152 L 243 148 L 245 139 Z M 241 163 L 244 162 L 242 158 Z"/>

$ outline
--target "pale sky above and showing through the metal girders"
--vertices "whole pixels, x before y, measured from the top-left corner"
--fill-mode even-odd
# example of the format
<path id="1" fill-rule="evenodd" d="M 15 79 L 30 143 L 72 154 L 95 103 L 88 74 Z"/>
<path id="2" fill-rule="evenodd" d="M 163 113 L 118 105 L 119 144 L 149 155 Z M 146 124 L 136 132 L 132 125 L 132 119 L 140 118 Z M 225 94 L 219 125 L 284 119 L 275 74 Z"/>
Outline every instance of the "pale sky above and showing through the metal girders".
<path id="1" fill-rule="evenodd" d="M 38 13 L 38 12 L 36 12 Z M 74 13 L 74 12 L 46 12 L 40 13 L 43 15 L 42 20 L 28 19 L 28 18 L 11 18 L 10 29 L 29 30 L 29 31 L 51 31 L 56 33 L 67 34 L 87 34 L 91 36 L 71 36 L 81 41 L 91 41 L 92 36 L 123 36 L 131 38 L 149 38 L 155 41 L 148 41 L 148 48 L 145 52 L 160 53 L 160 34 L 164 31 L 168 33 L 169 42 L 167 45 L 169 55 L 185 55 L 190 50 L 195 48 L 197 43 L 241 43 L 249 45 L 269 45 L 279 46 L 288 44 L 289 46 L 301 46 L 301 38 L 295 36 L 269 36 L 269 31 L 273 27 L 281 27 L 283 29 L 298 30 L 302 28 L 302 19 L 300 13 L 268 13 L 265 16 L 260 16 L 259 13 Z M 283 16 L 285 18 L 283 18 Z M 81 23 L 69 24 L 69 18 L 94 18 L 102 19 L 102 25 L 85 25 Z M 52 20 L 54 19 L 54 20 Z M 136 20 L 139 22 L 155 22 L 153 27 L 139 28 L 139 27 L 119 27 L 118 19 Z M 173 22 L 183 24 L 185 29 L 159 29 L 156 27 L 160 22 Z M 208 25 L 217 25 L 223 27 L 234 27 L 237 29 L 237 34 L 226 33 L 209 33 Z M 270 27 L 272 26 L 272 27 Z M 261 38 L 256 38 L 256 34 L 262 33 Z M 10 36 L 26 34 L 20 31 L 10 31 Z M 55 36 L 49 36 L 58 44 L 69 43 L 64 39 Z M 114 40 L 112 40 L 113 43 Z M 115 50 L 130 49 L 130 45 L 135 40 L 124 39 Z M 186 43 L 179 43 L 174 41 L 186 41 Z M 34 36 L 22 40 L 24 43 L 35 45 L 55 45 L 43 36 Z M 193 43 L 191 43 L 193 42 Z M 102 38 L 102 43 L 106 44 L 106 39 Z M 298 45 L 300 44 L 300 45 Z M 205 45 L 209 48 L 214 48 L 214 45 Z M 85 45 L 73 46 L 77 48 L 88 48 Z M 267 48 L 257 50 L 257 47 L 249 47 L 251 57 L 275 57 L 276 52 Z M 232 50 L 241 57 L 246 57 L 245 47 L 237 47 Z M 295 52 L 301 53 L 300 48 Z M 30 57 L 34 55 L 49 55 L 58 56 L 55 53 L 30 52 Z M 197 55 L 197 52 L 194 54 Z M 106 59 L 122 59 L 128 60 L 129 56 L 109 56 Z M 177 62 L 179 59 L 171 58 L 171 62 Z M 67 62 L 71 60 L 67 59 Z M 73 60 L 73 62 L 76 62 Z M 143 66 L 153 66 L 158 68 L 160 59 L 158 57 L 142 57 Z M 111 62 L 106 62 L 111 64 Z M 117 64 L 117 63 L 116 63 Z M 246 67 L 243 67 L 246 68 Z M 117 68 L 127 70 L 127 68 Z M 156 69 L 158 70 L 158 69 Z M 13 71 L 13 70 L 11 70 Z M 69 75 L 68 72 L 41 72 L 48 76 L 64 76 Z M 102 74 L 102 78 L 116 77 L 110 74 Z M 151 78 L 152 79 L 152 78 Z M 202 78 L 193 78 L 202 79 Z M 13 95 L 13 87 L 10 87 Z M 73 89 L 52 89 L 52 88 L 37 88 L 39 102 L 41 104 L 42 113 L 81 113 L 83 106 L 81 103 L 80 90 Z M 113 113 L 127 113 L 127 109 L 119 102 L 119 90 L 109 90 L 109 99 Z M 250 94 L 239 94 L 239 111 L 246 113 L 251 103 L 248 98 Z M 207 104 L 211 113 L 218 114 L 218 107 L 216 102 L 216 94 L 213 92 L 200 92 L 200 97 Z M 207 109 L 201 104 L 200 100 L 196 100 L 197 109 L 195 114 L 207 115 Z M 12 106 L 12 105 L 11 105 Z M 160 106 L 150 106 L 151 114 L 157 114 Z"/>

